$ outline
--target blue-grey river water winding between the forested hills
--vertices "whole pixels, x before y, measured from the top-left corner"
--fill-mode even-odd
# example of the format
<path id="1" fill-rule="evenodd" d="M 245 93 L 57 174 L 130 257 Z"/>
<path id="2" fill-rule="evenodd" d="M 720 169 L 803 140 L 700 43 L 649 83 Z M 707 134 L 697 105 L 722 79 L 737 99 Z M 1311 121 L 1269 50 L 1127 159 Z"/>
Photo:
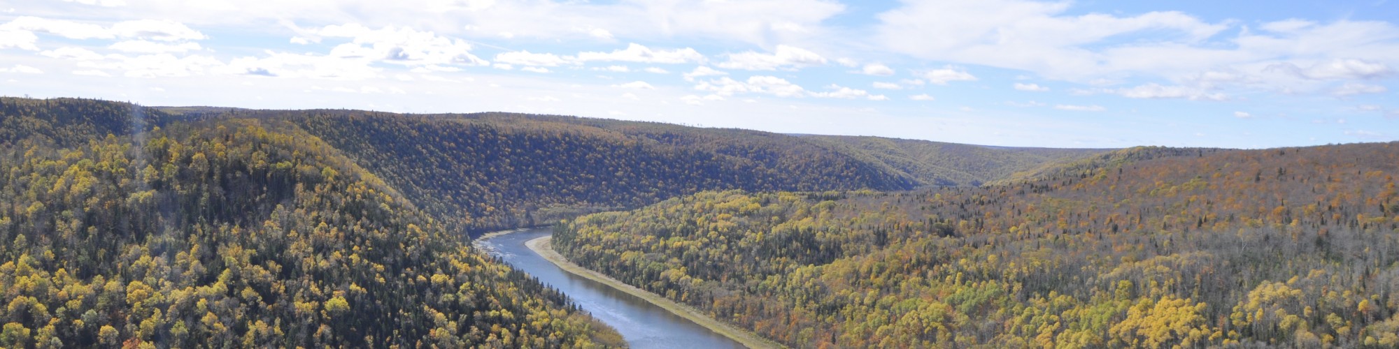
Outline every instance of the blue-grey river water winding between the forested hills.
<path id="1" fill-rule="evenodd" d="M 641 297 L 569 274 L 525 247 L 525 242 L 548 235 L 547 228 L 533 229 L 495 236 L 476 244 L 501 257 L 511 267 L 534 275 L 544 285 L 564 292 L 593 317 L 617 328 L 631 348 L 743 348 L 727 336 Z"/>

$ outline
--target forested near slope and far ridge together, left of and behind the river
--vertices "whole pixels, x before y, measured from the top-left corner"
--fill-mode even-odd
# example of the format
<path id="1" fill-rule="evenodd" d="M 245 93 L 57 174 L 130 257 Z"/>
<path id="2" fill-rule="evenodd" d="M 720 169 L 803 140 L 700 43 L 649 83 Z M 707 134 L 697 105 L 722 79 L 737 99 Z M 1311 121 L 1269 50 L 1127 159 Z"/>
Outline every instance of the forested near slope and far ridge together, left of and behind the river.
<path id="1" fill-rule="evenodd" d="M 0 346 L 624 346 L 469 236 L 704 190 L 911 190 L 1101 152 L 898 142 L 914 147 L 0 98 Z M 979 165 L 936 163 L 954 158 Z"/>

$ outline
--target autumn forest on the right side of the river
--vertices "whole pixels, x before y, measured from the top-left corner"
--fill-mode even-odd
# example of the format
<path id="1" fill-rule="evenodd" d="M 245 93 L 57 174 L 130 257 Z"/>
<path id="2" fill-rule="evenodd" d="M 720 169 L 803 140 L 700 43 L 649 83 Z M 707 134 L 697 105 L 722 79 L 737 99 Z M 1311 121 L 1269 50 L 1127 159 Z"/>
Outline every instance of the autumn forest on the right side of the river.
<path id="1" fill-rule="evenodd" d="M 1132 148 L 983 187 L 701 193 L 554 247 L 795 348 L 1396 348 L 1396 166 L 1395 142 Z"/>

